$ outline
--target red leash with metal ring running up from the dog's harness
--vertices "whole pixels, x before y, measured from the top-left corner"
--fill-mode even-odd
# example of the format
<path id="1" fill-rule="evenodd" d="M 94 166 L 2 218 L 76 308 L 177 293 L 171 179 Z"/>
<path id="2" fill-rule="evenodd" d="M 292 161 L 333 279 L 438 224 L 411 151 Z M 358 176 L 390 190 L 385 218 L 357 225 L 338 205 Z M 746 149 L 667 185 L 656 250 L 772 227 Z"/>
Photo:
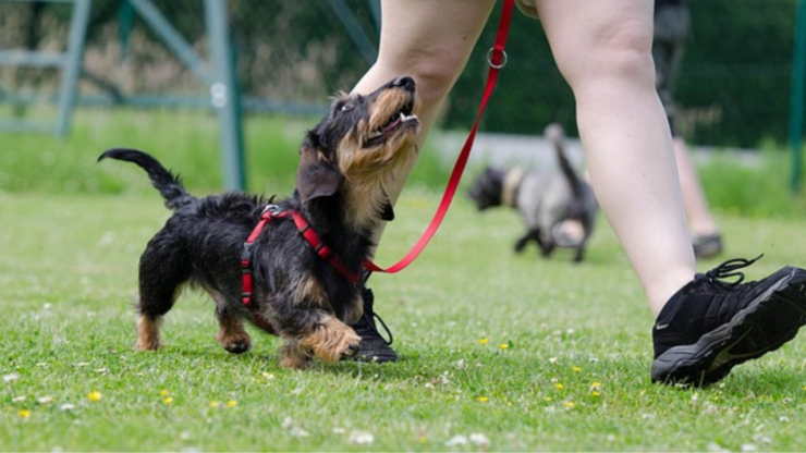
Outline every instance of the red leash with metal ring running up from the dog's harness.
<path id="1" fill-rule="evenodd" d="M 498 73 L 501 68 L 506 64 L 506 52 L 504 52 L 504 47 L 506 45 L 506 36 L 510 33 L 510 20 L 512 19 L 512 10 L 514 7 L 514 0 L 504 0 L 503 7 L 501 9 L 501 20 L 498 25 L 498 36 L 496 37 L 496 44 L 490 49 L 490 51 L 487 54 L 487 60 L 490 64 L 489 73 L 487 74 L 487 86 L 485 87 L 484 96 L 481 97 L 481 105 L 478 108 L 478 114 L 476 115 L 476 122 L 473 124 L 473 128 L 471 130 L 471 133 L 467 135 L 467 140 L 465 140 L 465 145 L 462 148 L 462 152 L 460 152 L 459 157 L 456 158 L 456 164 L 453 168 L 453 172 L 451 172 L 451 177 L 448 180 L 448 186 L 445 187 L 445 193 L 442 195 L 442 200 L 439 204 L 439 207 L 437 208 L 437 212 L 433 215 L 433 218 L 431 219 L 431 223 L 428 225 L 426 231 L 423 233 L 423 235 L 419 237 L 417 243 L 412 247 L 412 249 L 406 254 L 400 261 L 396 264 L 383 269 L 378 267 L 375 262 L 371 260 L 367 260 L 365 262 L 365 267 L 371 271 L 376 272 L 384 272 L 384 273 L 396 273 L 412 264 L 412 261 L 417 258 L 417 256 L 423 252 L 424 248 L 426 248 L 426 245 L 428 245 L 428 242 L 431 241 L 431 237 L 437 233 L 437 230 L 439 230 L 440 224 L 442 224 L 442 220 L 445 217 L 445 213 L 448 213 L 448 208 L 451 206 L 451 201 L 453 200 L 453 196 L 456 194 L 456 188 L 459 188 L 459 182 L 462 179 L 462 173 L 465 170 L 465 167 L 467 164 L 467 158 L 471 156 L 471 149 L 473 148 L 473 142 L 476 139 L 476 131 L 478 130 L 478 123 L 481 120 L 481 114 L 485 111 L 485 108 L 487 107 L 487 100 L 490 98 L 490 95 L 492 94 L 492 89 L 496 86 L 496 82 L 498 82 Z"/>

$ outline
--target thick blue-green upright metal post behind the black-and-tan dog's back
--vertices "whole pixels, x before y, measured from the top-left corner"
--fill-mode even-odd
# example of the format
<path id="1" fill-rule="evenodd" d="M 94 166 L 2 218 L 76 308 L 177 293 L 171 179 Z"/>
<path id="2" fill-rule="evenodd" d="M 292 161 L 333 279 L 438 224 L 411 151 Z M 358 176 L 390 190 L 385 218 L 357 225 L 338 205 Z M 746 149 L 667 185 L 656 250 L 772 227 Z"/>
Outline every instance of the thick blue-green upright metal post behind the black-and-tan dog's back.
<path id="1" fill-rule="evenodd" d="M 225 0 L 205 0 L 205 22 L 210 37 L 212 64 L 216 71 L 210 85 L 210 100 L 218 110 L 221 136 L 221 163 L 224 186 L 231 191 L 246 188 L 243 163 L 243 131 L 237 84 Z"/>

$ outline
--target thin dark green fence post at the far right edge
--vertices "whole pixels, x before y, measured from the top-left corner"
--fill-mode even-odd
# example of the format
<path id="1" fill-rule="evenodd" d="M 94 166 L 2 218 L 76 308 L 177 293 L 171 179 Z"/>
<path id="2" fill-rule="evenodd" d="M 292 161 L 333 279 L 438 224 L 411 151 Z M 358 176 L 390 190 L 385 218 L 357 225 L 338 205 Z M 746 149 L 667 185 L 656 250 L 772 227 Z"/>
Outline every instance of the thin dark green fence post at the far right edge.
<path id="1" fill-rule="evenodd" d="M 801 188 L 801 160 L 804 120 L 804 84 L 806 84 L 806 0 L 797 1 L 795 45 L 792 58 L 790 93 L 790 146 L 792 147 L 792 192 Z"/>

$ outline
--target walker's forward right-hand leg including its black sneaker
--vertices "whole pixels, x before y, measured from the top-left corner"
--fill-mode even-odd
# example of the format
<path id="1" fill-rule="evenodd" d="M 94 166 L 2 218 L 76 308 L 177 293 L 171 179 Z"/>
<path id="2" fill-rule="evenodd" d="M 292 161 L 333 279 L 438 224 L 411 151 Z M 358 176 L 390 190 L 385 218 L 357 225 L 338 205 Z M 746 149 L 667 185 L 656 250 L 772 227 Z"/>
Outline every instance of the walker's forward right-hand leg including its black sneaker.
<path id="1" fill-rule="evenodd" d="M 651 2 L 539 0 L 577 101 L 588 169 L 657 315 L 654 381 L 709 384 L 806 325 L 806 270 L 742 283 L 731 260 L 694 276 L 671 133 L 654 84 Z M 741 277 L 737 282 L 725 278 Z"/>

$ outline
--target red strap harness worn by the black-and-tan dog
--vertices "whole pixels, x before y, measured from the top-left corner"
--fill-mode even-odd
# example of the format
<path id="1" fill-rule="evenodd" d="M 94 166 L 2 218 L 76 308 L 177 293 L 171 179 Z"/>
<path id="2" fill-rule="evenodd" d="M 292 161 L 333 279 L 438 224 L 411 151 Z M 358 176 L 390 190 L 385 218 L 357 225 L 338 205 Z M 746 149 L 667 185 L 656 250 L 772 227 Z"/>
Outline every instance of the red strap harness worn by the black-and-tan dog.
<path id="1" fill-rule="evenodd" d="M 342 261 L 341 258 L 339 258 L 339 256 L 335 255 L 333 250 L 325 244 L 325 242 L 322 242 L 321 237 L 316 234 L 316 231 L 310 226 L 308 221 L 305 220 L 300 211 L 282 211 L 277 205 L 268 205 L 260 215 L 260 221 L 252 231 L 249 237 L 246 238 L 246 242 L 244 242 L 244 247 L 241 252 L 241 302 L 246 306 L 249 306 L 252 303 L 252 293 L 254 291 L 254 278 L 252 274 L 252 244 L 255 243 L 257 236 L 260 235 L 260 232 L 271 220 L 284 219 L 289 216 L 294 220 L 294 224 L 296 225 L 296 229 L 300 230 L 300 234 L 302 234 L 303 237 L 305 237 L 305 241 L 314 247 L 314 252 L 316 252 L 321 259 L 328 261 L 328 264 L 330 264 L 330 266 L 332 266 L 333 269 L 335 269 L 337 272 L 344 277 L 344 279 L 346 279 L 351 284 L 356 284 L 361 280 L 361 277 L 357 273 L 351 272 L 344 265 L 344 261 Z"/>

